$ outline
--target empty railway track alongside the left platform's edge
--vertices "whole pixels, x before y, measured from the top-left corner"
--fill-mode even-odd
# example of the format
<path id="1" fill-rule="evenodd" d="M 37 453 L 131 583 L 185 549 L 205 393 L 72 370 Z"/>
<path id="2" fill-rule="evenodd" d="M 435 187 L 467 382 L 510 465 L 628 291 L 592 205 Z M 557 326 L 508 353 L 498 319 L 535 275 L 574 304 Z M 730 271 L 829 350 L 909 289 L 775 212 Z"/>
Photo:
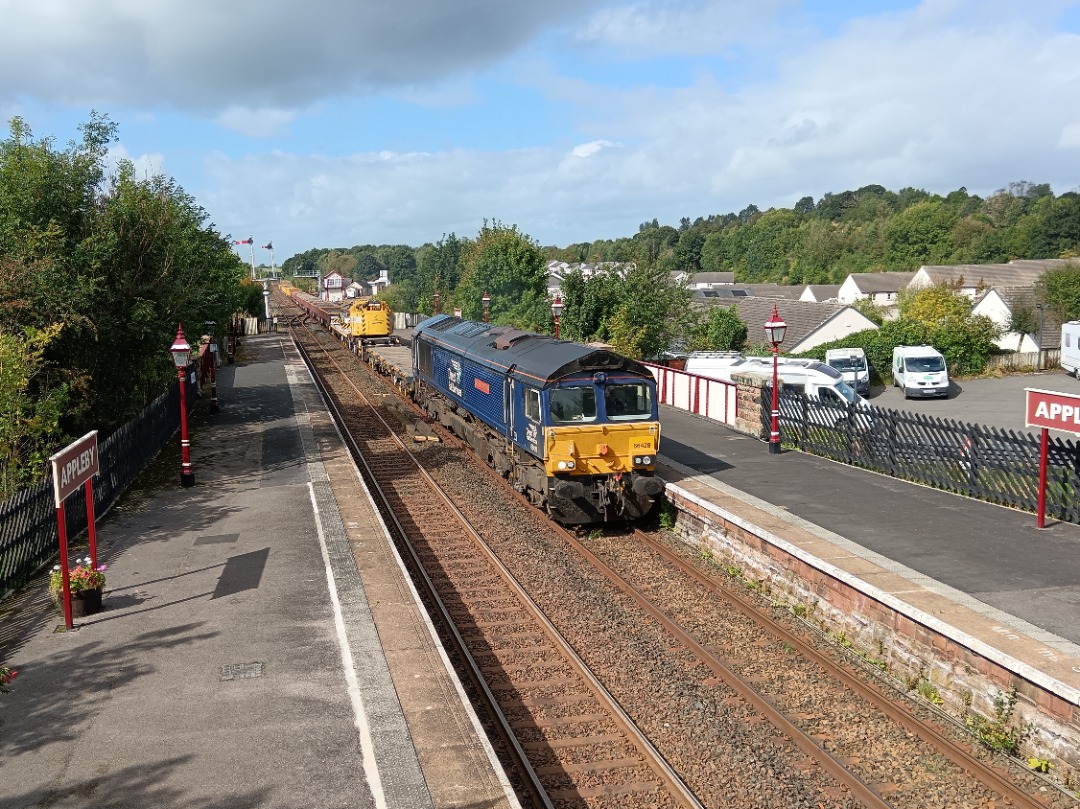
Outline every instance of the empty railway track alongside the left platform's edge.
<path id="1" fill-rule="evenodd" d="M 299 340 L 535 806 L 699 807 L 325 346 Z M 629 803 L 627 803 L 629 801 Z"/>

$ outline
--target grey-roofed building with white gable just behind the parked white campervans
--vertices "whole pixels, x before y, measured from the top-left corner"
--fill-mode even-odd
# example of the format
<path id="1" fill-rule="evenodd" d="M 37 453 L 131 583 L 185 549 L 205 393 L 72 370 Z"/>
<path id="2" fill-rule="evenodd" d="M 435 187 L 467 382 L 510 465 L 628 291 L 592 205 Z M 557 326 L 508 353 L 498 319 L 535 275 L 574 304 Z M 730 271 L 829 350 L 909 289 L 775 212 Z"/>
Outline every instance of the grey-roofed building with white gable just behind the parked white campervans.
<path id="1" fill-rule="evenodd" d="M 715 291 L 705 291 L 715 292 Z M 765 322 L 772 315 L 773 307 L 787 324 L 781 350 L 785 354 L 799 354 L 826 342 L 840 340 L 850 334 L 877 328 L 866 315 L 841 304 L 819 304 L 812 300 L 766 298 L 760 296 L 717 297 L 696 295 L 690 306 L 698 309 L 734 306 L 739 320 L 746 324 L 747 339 L 754 345 L 765 345 Z"/>

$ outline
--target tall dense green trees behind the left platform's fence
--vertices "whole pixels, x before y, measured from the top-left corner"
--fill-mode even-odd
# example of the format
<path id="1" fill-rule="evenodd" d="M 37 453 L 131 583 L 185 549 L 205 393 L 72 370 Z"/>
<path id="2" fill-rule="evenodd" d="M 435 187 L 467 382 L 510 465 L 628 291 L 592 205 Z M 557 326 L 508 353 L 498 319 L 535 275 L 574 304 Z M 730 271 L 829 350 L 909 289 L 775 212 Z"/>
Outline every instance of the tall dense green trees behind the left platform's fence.
<path id="1" fill-rule="evenodd" d="M 0 140 L 0 498 L 73 437 L 108 435 L 176 381 L 168 347 L 258 311 L 261 288 L 175 180 L 110 170 L 92 113 L 58 148 L 19 118 Z"/>

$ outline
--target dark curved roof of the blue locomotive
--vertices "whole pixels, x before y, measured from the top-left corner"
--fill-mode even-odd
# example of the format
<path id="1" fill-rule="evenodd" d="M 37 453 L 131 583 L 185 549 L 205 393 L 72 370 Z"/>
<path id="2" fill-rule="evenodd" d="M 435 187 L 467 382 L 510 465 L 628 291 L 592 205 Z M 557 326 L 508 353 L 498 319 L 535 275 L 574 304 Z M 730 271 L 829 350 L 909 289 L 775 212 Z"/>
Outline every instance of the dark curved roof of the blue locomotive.
<path id="1" fill-rule="evenodd" d="M 417 338 L 444 343 L 486 365 L 544 385 L 571 374 L 599 370 L 649 375 L 642 363 L 609 349 L 447 314 L 436 314 L 420 323 L 414 333 L 414 340 Z"/>

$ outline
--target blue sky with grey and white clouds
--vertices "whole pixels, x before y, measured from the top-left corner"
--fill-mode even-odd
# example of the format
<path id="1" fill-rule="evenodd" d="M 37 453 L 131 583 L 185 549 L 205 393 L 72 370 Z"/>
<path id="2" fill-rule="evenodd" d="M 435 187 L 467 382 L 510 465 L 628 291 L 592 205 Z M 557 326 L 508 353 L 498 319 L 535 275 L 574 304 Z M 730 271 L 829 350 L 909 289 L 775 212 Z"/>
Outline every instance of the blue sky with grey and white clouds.
<path id="1" fill-rule="evenodd" d="M 485 220 L 562 247 L 870 184 L 1080 190 L 1080 0 L 0 0 L 0 21 L 4 122 L 63 146 L 107 114 L 110 160 L 174 178 L 259 264 Z"/>

